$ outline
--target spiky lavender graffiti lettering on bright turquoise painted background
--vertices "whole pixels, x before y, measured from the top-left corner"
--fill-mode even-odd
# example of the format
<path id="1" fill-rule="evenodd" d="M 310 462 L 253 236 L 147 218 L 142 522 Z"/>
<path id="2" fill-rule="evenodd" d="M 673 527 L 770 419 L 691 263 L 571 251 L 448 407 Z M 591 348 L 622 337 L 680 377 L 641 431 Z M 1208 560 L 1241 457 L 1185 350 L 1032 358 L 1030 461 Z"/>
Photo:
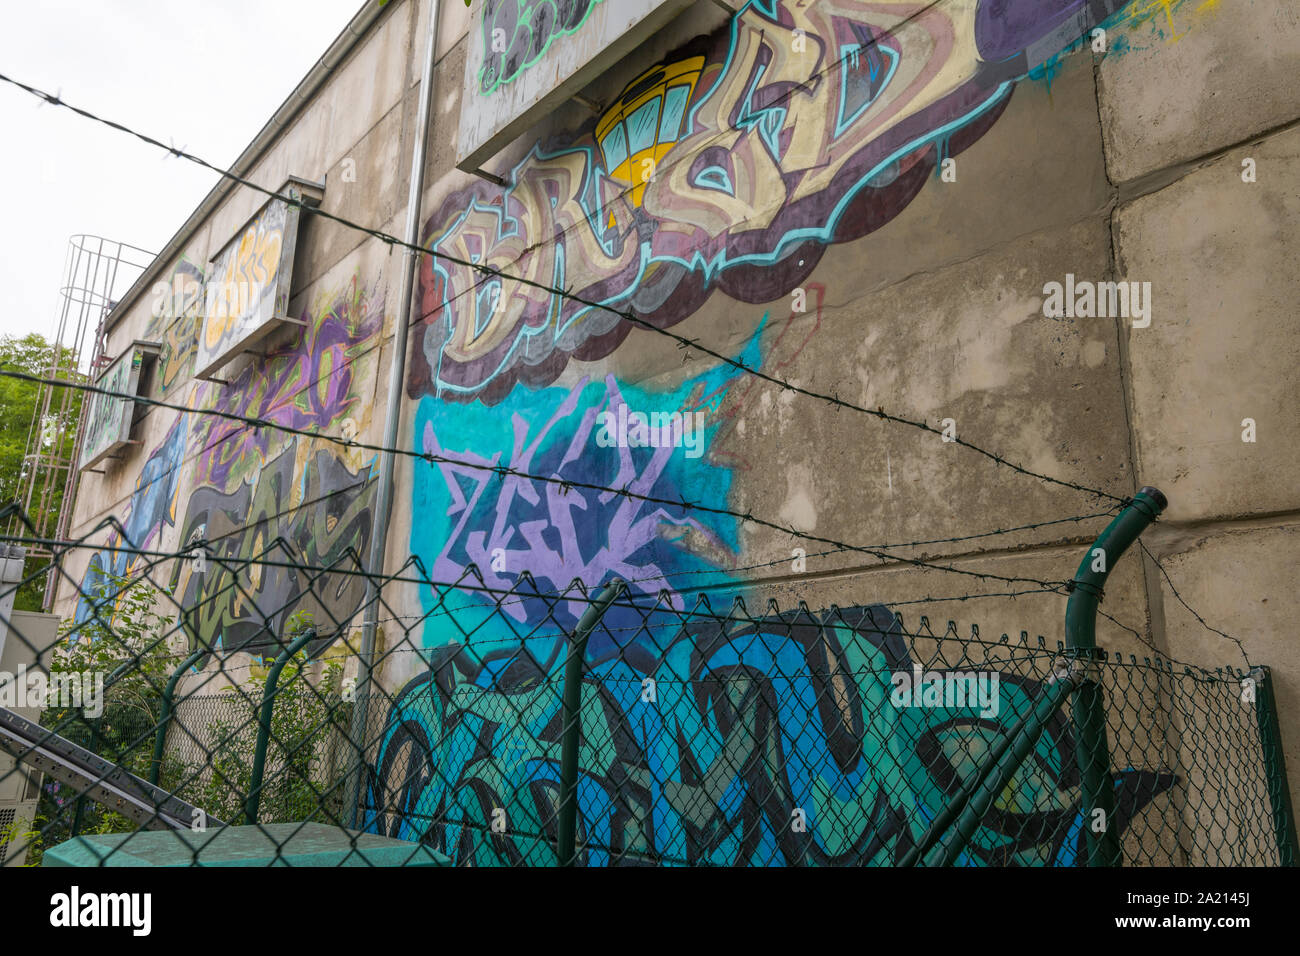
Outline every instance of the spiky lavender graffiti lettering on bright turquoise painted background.
<path id="1" fill-rule="evenodd" d="M 762 328 L 741 360 L 759 364 Z M 411 553 L 437 581 L 456 581 L 473 566 L 485 593 L 512 589 L 525 574 L 543 594 L 563 592 L 575 579 L 597 587 L 619 576 L 634 592 L 666 594 L 680 607 L 673 576 L 734 563 L 737 528 L 732 520 L 659 502 L 725 501 L 731 471 L 715 463 L 711 447 L 725 424 L 720 408 L 733 378 L 725 365 L 667 390 L 620 384 L 614 376 L 584 377 L 572 389 L 516 393 L 503 414 L 491 416 L 480 407 L 422 399 L 415 420 L 420 447 L 450 460 L 415 464 L 412 509 L 420 520 L 411 524 Z M 655 414 L 667 420 L 676 415 L 681 433 L 658 446 L 620 445 L 602 433 L 603 421 L 616 424 L 633 412 L 647 423 Z M 551 481 L 490 471 L 498 466 Z M 659 502 L 562 483 L 627 488 Z M 433 592 L 422 597 L 426 610 L 439 600 Z M 520 622 L 550 617 L 573 623 L 584 606 L 575 601 L 550 609 L 538 600 L 504 610 Z M 634 611 L 610 614 L 619 627 Z M 593 645 L 597 656 L 612 650 L 602 640 Z"/>

